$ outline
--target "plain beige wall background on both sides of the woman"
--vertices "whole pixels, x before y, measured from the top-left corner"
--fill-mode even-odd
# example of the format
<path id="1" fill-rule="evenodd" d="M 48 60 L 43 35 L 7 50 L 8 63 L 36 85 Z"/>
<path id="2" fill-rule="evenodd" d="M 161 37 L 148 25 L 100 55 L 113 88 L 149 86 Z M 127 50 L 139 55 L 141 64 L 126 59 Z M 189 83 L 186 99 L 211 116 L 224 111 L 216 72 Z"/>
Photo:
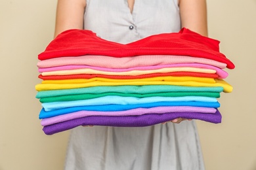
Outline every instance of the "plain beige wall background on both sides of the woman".
<path id="1" fill-rule="evenodd" d="M 37 54 L 53 39 L 56 1 L 0 0 L 0 170 L 63 168 L 68 132 L 44 135 Z M 207 170 L 256 169 L 256 1 L 208 0 L 209 37 L 234 61 L 222 124 L 198 121 Z"/>

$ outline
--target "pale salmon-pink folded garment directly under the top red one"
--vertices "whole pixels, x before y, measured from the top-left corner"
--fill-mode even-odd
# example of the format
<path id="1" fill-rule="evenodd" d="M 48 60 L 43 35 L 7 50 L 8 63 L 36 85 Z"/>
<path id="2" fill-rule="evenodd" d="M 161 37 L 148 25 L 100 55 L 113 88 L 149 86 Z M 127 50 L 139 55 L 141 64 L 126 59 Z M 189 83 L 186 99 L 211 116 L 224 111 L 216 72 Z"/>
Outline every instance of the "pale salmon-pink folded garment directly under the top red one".
<path id="1" fill-rule="evenodd" d="M 102 62 L 108 61 L 108 62 Z M 104 67 L 112 69 L 127 69 L 131 67 L 143 67 L 151 65 L 169 65 L 177 63 L 202 63 L 213 65 L 220 69 L 226 68 L 226 63 L 207 58 L 194 58 L 191 56 L 173 56 L 173 55 L 143 55 L 136 57 L 114 58 L 111 56 L 67 56 L 60 58 L 45 59 L 37 62 L 37 67 L 56 67 L 63 65 L 90 65 L 94 67 Z"/>

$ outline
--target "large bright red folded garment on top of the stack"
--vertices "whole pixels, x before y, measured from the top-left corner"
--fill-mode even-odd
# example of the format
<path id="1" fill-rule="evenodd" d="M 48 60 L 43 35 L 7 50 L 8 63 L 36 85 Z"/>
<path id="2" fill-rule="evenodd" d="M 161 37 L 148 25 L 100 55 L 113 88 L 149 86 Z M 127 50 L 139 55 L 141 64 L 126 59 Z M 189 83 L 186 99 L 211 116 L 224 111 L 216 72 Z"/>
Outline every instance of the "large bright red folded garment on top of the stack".
<path id="1" fill-rule="evenodd" d="M 70 29 L 50 42 L 38 58 L 43 60 L 86 54 L 116 58 L 154 54 L 193 56 L 214 59 L 226 63 L 229 69 L 234 69 L 234 64 L 219 52 L 219 41 L 203 37 L 186 28 L 182 28 L 179 33 L 151 35 L 129 44 L 106 41 L 89 30 Z"/>

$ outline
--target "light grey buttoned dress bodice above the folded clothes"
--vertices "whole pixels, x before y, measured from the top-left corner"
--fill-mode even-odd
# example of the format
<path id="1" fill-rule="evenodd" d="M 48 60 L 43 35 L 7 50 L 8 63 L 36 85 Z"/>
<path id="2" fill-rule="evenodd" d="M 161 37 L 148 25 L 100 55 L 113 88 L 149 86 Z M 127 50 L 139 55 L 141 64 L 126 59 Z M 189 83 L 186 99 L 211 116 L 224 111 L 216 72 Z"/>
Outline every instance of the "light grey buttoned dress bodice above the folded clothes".
<path id="1" fill-rule="evenodd" d="M 150 35 L 181 29 L 178 0 L 137 0 L 133 11 L 127 0 L 87 0 L 84 29 L 102 39 L 126 44 Z"/>

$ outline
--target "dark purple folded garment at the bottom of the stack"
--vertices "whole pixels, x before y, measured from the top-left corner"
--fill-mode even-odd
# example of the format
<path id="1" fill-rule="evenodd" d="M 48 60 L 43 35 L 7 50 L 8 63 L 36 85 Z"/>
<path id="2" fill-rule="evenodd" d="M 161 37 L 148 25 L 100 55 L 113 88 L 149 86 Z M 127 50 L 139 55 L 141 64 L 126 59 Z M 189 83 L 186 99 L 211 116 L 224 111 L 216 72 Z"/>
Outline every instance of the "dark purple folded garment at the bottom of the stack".
<path id="1" fill-rule="evenodd" d="M 47 135 L 53 135 L 61 131 L 66 131 L 77 126 L 114 126 L 114 127 L 144 127 L 168 122 L 175 118 L 188 118 L 203 120 L 211 123 L 221 123 L 221 113 L 219 110 L 215 114 L 198 112 L 172 112 L 165 114 L 143 114 L 141 116 L 87 116 L 68 120 L 58 124 L 44 126 L 43 131 Z"/>

